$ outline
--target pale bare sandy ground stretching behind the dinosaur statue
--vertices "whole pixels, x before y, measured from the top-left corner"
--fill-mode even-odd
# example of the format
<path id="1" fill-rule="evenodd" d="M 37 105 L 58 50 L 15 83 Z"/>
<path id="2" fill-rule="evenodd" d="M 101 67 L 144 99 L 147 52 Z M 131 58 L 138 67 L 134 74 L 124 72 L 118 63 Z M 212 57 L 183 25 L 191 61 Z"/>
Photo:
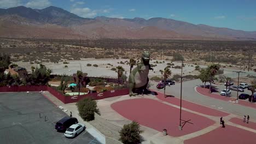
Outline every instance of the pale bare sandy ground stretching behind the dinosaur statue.
<path id="1" fill-rule="evenodd" d="M 129 76 L 130 73 L 130 65 L 125 64 L 119 64 L 118 62 L 125 62 L 129 61 L 129 59 L 94 59 L 94 58 L 87 58 L 83 59 L 82 61 L 68 61 L 69 64 L 63 64 L 63 63 L 43 63 L 46 65 L 47 68 L 53 70 L 53 74 L 66 74 L 66 75 L 72 75 L 74 73 L 77 73 L 77 70 L 82 69 L 84 73 L 88 73 L 89 76 L 104 76 L 104 77 L 117 77 L 117 73 L 115 71 L 110 70 L 111 68 L 115 68 L 117 66 L 122 66 L 126 71 L 126 76 Z M 150 64 L 157 64 L 154 68 L 154 71 L 149 71 L 149 77 L 152 76 L 161 76 L 161 73 L 159 70 L 164 70 L 164 68 L 167 66 L 167 63 L 171 63 L 171 61 L 165 61 L 165 63 L 154 63 L 156 60 L 150 61 Z M 98 67 L 93 67 L 92 65 L 90 67 L 86 66 L 86 64 L 97 64 Z M 108 65 L 112 64 L 113 66 Z M 173 62 L 174 65 L 181 65 L 181 62 Z M 31 66 L 37 67 L 37 64 L 30 64 L 28 62 L 16 62 L 20 67 L 25 67 L 28 71 L 31 71 Z M 64 66 L 67 65 L 68 68 L 64 68 Z M 81 67 L 80 67 L 81 65 Z M 108 67 L 108 68 L 106 68 Z M 205 67 L 205 66 L 200 66 Z M 133 67 L 135 68 L 135 67 Z M 172 71 L 172 75 L 174 74 L 181 74 L 181 69 L 174 69 L 170 68 Z M 195 70 L 194 67 L 185 65 L 183 68 L 184 75 L 195 75 L 199 74 L 199 71 Z"/>

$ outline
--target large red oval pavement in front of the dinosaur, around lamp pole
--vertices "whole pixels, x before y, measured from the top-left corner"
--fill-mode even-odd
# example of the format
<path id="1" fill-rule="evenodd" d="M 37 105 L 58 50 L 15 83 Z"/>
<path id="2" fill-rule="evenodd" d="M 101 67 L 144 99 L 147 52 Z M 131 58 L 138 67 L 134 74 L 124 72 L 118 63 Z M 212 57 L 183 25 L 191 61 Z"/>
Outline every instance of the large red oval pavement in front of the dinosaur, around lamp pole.
<path id="1" fill-rule="evenodd" d="M 206 128 L 212 124 L 209 118 L 182 111 L 182 119 L 194 124 L 185 124 L 183 130 L 179 130 L 179 109 L 160 103 L 153 99 L 130 99 L 113 103 L 112 109 L 131 121 L 136 121 L 146 127 L 162 131 L 167 129 L 168 135 L 182 136 Z"/>

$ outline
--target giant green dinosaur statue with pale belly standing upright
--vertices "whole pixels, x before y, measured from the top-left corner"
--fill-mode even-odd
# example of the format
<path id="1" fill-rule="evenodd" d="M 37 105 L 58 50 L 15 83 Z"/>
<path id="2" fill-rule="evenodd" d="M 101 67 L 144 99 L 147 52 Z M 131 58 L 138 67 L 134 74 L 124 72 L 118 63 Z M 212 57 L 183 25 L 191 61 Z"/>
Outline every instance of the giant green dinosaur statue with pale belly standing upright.
<path id="1" fill-rule="evenodd" d="M 144 51 L 141 57 L 141 63 L 137 64 L 137 67 L 132 70 L 129 76 L 129 91 L 130 96 L 135 96 L 133 93 L 135 89 L 144 89 L 147 91 L 148 86 L 148 73 L 149 70 L 154 70 L 150 67 L 149 64 L 150 53 L 148 51 Z"/>

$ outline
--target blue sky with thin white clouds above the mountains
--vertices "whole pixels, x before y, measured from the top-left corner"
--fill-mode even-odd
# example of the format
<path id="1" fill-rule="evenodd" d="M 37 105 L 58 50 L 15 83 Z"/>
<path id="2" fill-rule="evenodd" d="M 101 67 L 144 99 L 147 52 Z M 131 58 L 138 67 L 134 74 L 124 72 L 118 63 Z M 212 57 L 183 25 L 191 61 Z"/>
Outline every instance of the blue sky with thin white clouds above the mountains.
<path id="1" fill-rule="evenodd" d="M 38 9 L 54 5 L 82 17 L 165 17 L 194 24 L 256 31 L 254 0 L 0 0 L 0 8 L 18 5 Z"/>

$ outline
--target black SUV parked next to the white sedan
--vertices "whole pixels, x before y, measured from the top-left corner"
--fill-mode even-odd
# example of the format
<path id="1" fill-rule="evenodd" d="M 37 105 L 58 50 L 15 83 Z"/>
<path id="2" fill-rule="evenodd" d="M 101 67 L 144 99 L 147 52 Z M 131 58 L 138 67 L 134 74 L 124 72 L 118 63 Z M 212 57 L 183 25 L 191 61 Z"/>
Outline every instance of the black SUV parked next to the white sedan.
<path id="1" fill-rule="evenodd" d="M 75 117 L 64 117 L 55 124 L 55 129 L 60 131 L 66 131 L 72 124 L 77 124 L 77 118 Z"/>

